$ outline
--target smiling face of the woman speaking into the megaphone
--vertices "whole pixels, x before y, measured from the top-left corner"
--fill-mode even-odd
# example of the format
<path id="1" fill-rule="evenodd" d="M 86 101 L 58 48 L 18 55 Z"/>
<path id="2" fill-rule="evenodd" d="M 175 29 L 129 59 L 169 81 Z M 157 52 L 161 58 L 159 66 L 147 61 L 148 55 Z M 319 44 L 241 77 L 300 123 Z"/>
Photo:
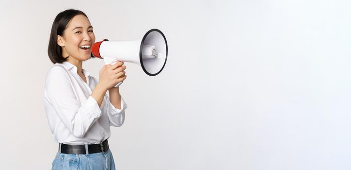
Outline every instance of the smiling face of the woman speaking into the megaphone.
<path id="1" fill-rule="evenodd" d="M 77 15 L 71 19 L 63 36 L 57 35 L 57 44 L 62 47 L 63 57 L 85 61 L 91 57 L 91 47 L 95 42 L 93 27 L 87 17 Z M 71 58 L 73 57 L 73 58 Z"/>

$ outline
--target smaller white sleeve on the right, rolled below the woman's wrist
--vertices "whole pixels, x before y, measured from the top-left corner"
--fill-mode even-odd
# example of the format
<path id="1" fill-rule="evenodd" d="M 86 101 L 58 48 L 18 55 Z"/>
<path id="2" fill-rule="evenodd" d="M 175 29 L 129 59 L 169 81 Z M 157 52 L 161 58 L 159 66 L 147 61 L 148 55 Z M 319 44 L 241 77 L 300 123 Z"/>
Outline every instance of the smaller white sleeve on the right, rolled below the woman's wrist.
<path id="1" fill-rule="evenodd" d="M 107 107 L 107 115 L 109 117 L 110 126 L 122 126 L 124 119 L 125 119 L 125 110 L 127 109 L 128 105 L 124 102 L 121 96 L 121 109 L 117 109 L 113 106 L 110 102 L 110 96 L 106 95 L 106 102 L 108 103 Z"/>

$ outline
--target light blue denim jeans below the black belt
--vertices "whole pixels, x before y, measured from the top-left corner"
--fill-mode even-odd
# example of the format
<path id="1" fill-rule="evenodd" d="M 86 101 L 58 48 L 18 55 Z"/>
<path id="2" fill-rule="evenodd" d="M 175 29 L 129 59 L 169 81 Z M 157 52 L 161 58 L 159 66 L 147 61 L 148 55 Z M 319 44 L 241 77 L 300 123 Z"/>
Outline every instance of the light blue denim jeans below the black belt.
<path id="1" fill-rule="evenodd" d="M 112 153 L 56 153 L 52 170 L 115 170 Z"/>

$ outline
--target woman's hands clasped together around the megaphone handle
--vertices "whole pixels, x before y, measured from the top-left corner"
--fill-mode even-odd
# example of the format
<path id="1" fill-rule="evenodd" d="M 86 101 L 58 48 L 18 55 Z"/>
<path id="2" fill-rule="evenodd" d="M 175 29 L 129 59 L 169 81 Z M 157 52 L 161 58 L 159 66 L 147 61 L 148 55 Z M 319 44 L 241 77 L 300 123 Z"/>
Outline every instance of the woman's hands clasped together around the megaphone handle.
<path id="1" fill-rule="evenodd" d="M 99 71 L 99 84 L 106 90 L 114 87 L 120 82 L 123 82 L 126 78 L 126 66 L 124 63 L 119 61 L 114 65 L 105 65 Z"/>

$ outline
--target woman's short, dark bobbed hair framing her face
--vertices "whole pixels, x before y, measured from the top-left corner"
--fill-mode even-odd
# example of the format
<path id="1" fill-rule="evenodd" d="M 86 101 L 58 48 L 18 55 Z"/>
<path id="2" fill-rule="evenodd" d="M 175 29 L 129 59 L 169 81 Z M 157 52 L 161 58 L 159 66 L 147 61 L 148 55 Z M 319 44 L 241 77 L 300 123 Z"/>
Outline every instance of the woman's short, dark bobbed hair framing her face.
<path id="1" fill-rule="evenodd" d="M 69 21 L 77 15 L 83 15 L 87 17 L 80 10 L 67 9 L 59 13 L 55 17 L 54 22 L 52 23 L 49 45 L 48 45 L 48 55 L 53 64 L 63 63 L 69 57 L 69 56 L 67 57 L 62 56 L 62 47 L 57 44 L 57 35 L 62 36 L 64 34 L 64 30 L 66 29 Z M 95 58 L 95 57 L 92 55 L 92 58 Z"/>

